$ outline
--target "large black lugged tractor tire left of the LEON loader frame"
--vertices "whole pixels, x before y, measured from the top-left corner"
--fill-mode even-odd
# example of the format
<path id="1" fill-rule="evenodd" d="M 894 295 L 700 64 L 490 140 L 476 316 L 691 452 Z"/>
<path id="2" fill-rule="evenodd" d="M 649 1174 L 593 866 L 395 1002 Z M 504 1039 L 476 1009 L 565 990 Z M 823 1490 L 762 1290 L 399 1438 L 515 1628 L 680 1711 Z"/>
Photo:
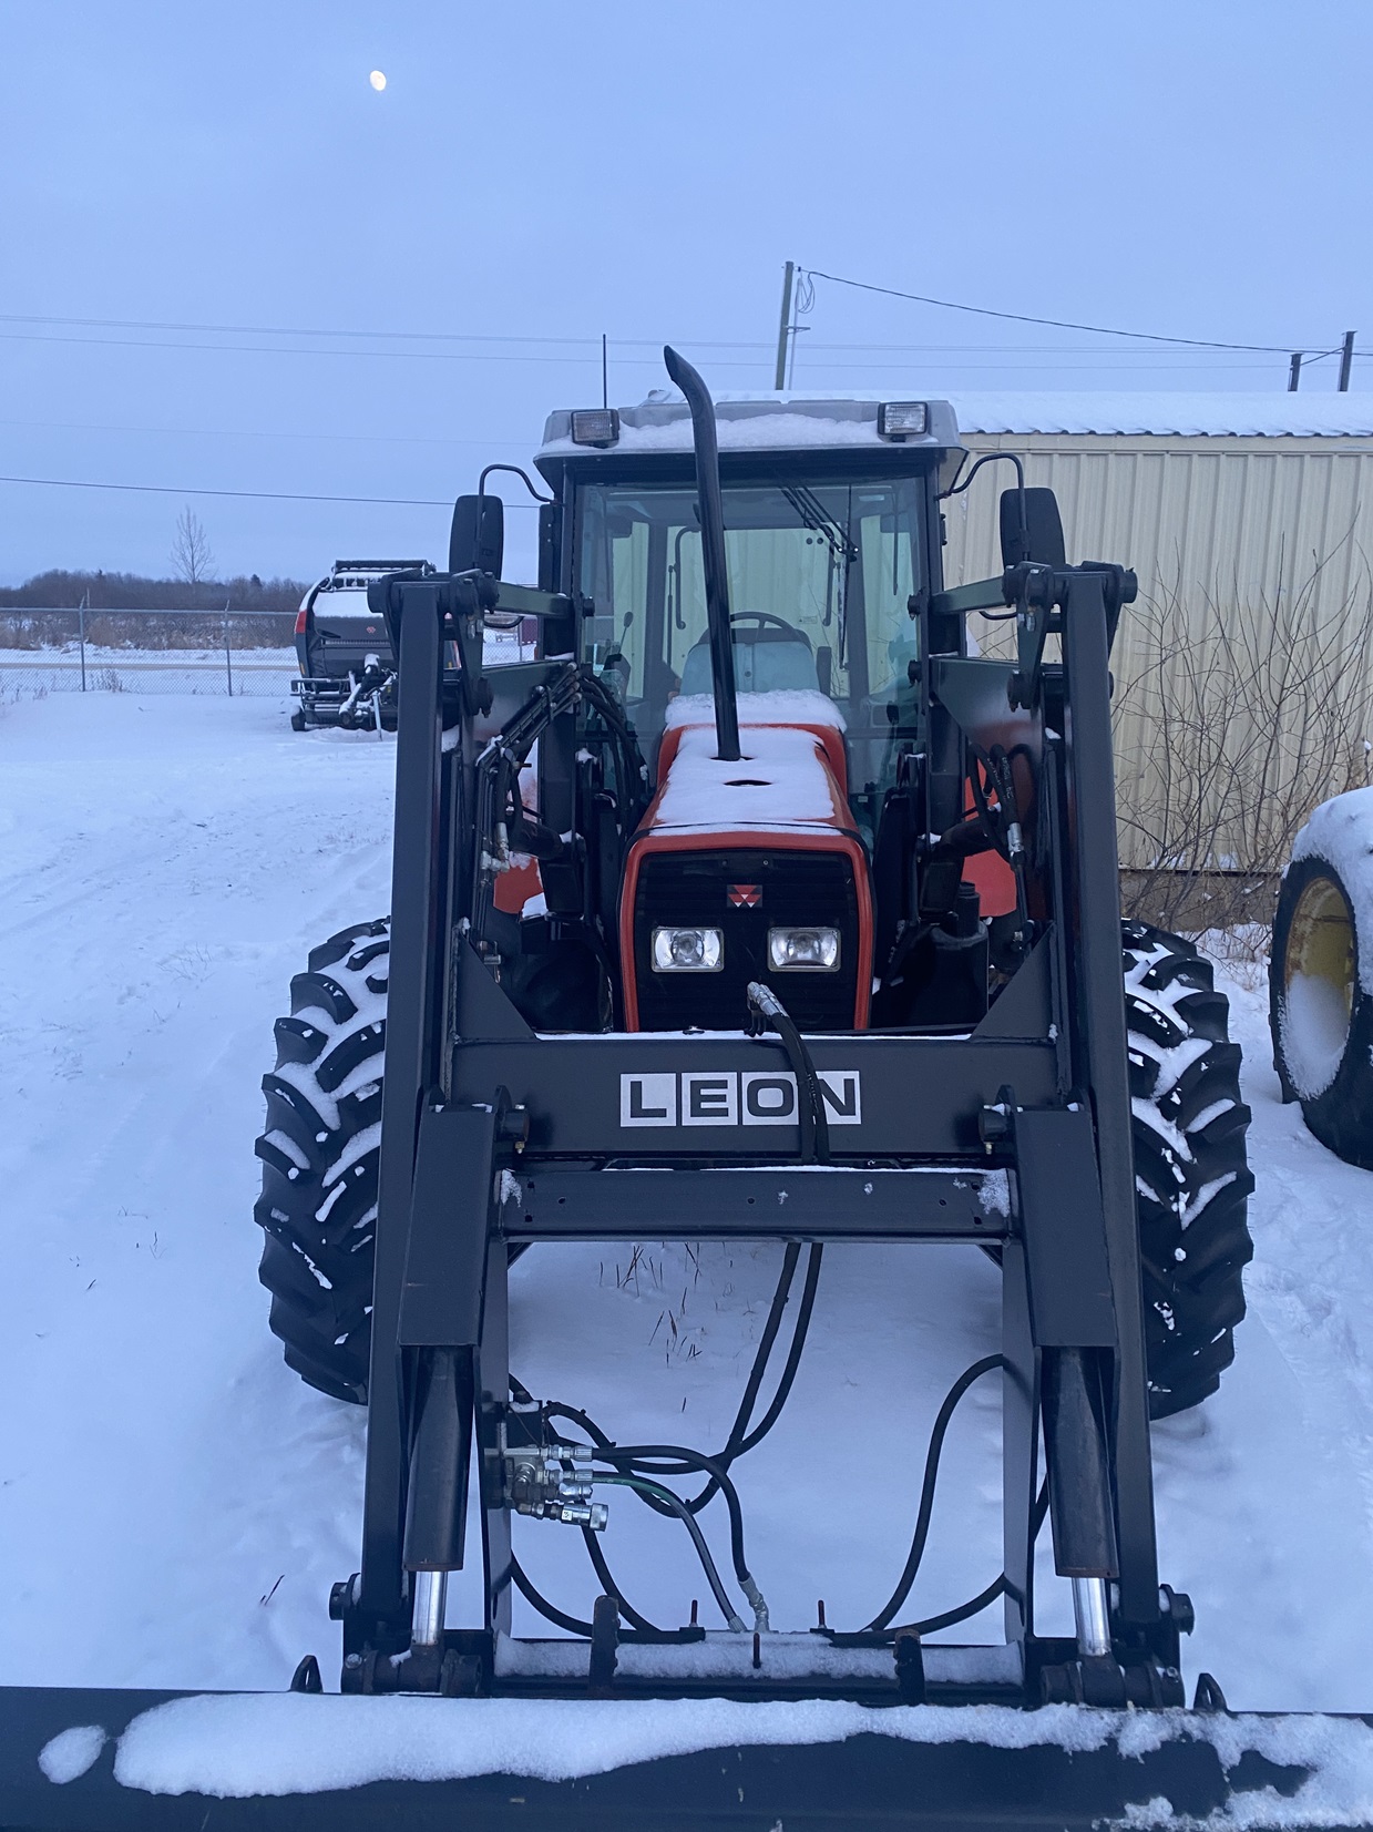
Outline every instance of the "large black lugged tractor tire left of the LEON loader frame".
<path id="1" fill-rule="evenodd" d="M 286 1363 L 335 1400 L 366 1401 L 381 1156 L 390 921 L 330 936 L 291 980 L 264 1075 L 256 1143 L 265 1240 L 258 1277 Z"/>

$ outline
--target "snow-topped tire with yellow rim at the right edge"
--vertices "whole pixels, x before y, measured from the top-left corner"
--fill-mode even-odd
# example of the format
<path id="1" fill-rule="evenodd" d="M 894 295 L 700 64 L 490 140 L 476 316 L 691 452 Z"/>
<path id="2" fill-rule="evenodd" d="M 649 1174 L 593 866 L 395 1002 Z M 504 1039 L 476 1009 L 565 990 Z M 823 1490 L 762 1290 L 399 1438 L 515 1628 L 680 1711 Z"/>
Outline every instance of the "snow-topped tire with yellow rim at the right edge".
<path id="1" fill-rule="evenodd" d="M 1327 832 L 1283 876 L 1269 1024 L 1283 1099 L 1302 1103 L 1302 1118 L 1322 1145 L 1373 1171 L 1373 998 L 1360 984 L 1355 900 L 1329 857 L 1340 850 L 1329 845 L 1329 830 L 1338 834 L 1347 817 L 1366 819 L 1362 808 L 1340 806 L 1353 802 L 1355 795 L 1340 795 L 1316 810 L 1311 824 Z M 1369 945 L 1368 936 L 1364 942 Z"/>

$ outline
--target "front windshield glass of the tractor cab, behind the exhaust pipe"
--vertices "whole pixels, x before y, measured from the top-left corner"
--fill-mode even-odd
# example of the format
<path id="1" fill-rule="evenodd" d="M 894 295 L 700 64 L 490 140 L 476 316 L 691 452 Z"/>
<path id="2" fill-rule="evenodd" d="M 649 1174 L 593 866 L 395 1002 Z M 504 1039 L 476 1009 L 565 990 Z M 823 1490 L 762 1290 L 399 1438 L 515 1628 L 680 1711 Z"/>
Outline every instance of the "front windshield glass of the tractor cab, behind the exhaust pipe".
<path id="1" fill-rule="evenodd" d="M 710 692 L 696 489 L 578 495 L 584 660 L 648 749 L 676 694 Z M 738 691 L 827 694 L 848 725 L 853 791 L 890 782 L 895 740 L 915 731 L 921 478 L 727 485 L 723 502 Z"/>

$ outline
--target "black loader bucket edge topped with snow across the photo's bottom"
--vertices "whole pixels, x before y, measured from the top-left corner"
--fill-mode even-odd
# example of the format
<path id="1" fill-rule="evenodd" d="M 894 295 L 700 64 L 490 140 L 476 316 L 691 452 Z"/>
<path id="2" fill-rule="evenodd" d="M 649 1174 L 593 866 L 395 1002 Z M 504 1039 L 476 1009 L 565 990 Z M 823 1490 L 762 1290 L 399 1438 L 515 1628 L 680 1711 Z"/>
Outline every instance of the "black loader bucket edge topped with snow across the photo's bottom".
<path id="1" fill-rule="evenodd" d="M 1373 1718 L 0 1691 L 5 1832 L 1115 1825 L 1369 1827 Z"/>

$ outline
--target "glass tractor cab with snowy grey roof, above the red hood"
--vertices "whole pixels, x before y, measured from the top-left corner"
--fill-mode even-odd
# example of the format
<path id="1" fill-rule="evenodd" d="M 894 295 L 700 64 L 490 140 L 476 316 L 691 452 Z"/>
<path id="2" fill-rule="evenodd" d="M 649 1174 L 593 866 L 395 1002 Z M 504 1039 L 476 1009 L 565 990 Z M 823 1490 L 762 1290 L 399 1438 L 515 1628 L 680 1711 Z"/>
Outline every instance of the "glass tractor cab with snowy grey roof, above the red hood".
<path id="1" fill-rule="evenodd" d="M 740 720 L 842 733 L 853 823 L 871 843 L 897 757 L 919 740 L 912 665 L 937 493 L 965 456 L 954 414 L 725 396 L 716 425 Z M 665 733 L 714 722 L 690 409 L 553 414 L 536 463 L 562 504 L 566 586 L 588 606 L 580 660 L 624 705 L 657 784 Z"/>

